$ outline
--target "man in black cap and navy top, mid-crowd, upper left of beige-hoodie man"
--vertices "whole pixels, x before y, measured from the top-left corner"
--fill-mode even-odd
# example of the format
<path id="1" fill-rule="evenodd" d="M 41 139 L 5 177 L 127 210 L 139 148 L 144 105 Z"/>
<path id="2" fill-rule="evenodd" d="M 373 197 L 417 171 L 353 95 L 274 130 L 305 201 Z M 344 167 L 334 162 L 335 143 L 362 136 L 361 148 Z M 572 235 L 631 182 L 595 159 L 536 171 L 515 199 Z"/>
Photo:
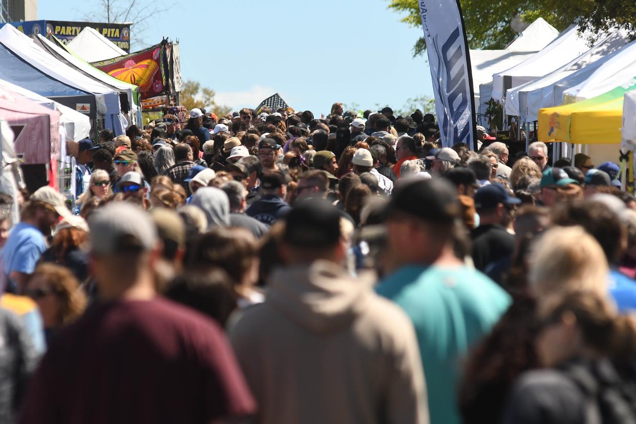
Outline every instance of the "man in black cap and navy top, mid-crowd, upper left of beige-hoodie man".
<path id="1" fill-rule="evenodd" d="M 261 177 L 259 191 L 261 198 L 245 210 L 245 215 L 272 225 L 289 212 L 289 205 L 283 200 L 287 195 L 287 177 L 282 172 L 266 172 Z"/>

